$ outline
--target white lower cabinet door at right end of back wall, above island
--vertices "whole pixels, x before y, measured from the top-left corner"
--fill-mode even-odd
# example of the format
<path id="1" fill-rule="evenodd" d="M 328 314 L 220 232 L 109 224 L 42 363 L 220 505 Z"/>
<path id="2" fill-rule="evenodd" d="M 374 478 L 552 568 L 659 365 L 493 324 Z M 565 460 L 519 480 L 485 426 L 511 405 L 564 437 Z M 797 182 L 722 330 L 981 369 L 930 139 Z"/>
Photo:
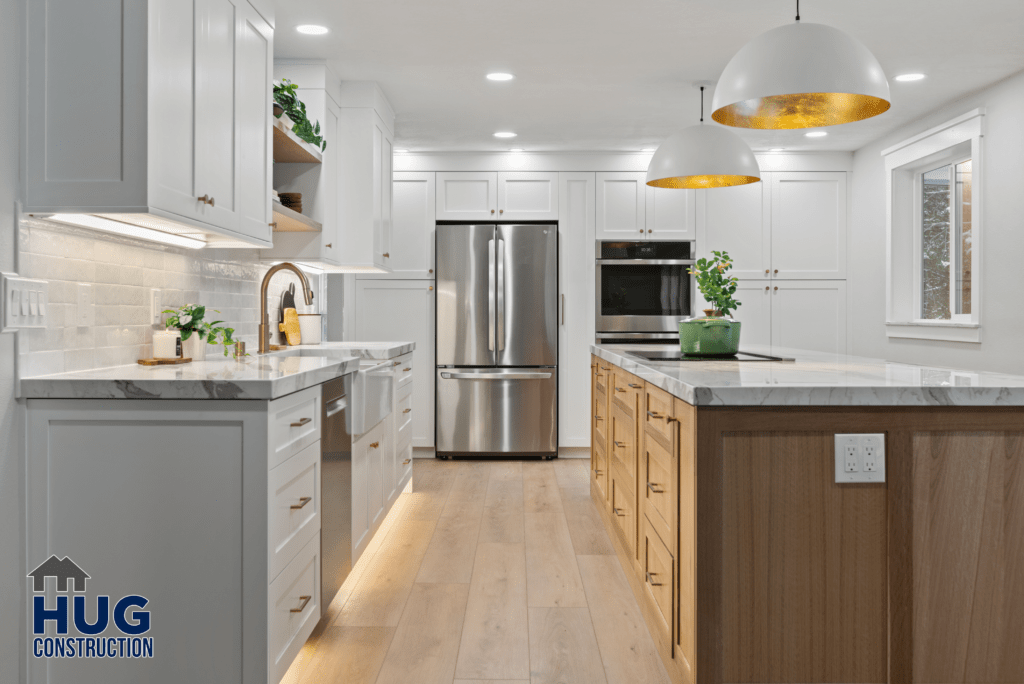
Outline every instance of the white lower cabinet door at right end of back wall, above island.
<path id="1" fill-rule="evenodd" d="M 771 288 L 773 346 L 846 353 L 845 281 L 775 281 Z"/>

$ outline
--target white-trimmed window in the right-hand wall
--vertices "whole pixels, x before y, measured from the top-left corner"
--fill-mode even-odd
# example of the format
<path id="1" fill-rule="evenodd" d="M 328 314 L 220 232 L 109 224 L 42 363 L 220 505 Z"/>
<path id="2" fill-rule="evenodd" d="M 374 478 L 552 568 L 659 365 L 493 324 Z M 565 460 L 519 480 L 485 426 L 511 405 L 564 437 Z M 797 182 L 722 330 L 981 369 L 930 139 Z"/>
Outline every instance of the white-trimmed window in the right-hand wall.
<path id="1" fill-rule="evenodd" d="M 981 341 L 981 142 L 975 110 L 885 157 L 889 337 Z"/>

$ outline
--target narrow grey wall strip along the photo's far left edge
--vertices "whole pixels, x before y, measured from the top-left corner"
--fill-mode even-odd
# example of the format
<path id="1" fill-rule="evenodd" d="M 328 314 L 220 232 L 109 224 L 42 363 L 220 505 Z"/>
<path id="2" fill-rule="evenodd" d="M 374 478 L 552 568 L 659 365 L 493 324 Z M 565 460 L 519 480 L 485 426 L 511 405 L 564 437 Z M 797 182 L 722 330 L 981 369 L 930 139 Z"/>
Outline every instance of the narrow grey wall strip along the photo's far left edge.
<path id="1" fill-rule="evenodd" d="M 18 182 L 22 35 L 25 0 L 0 0 L 0 270 L 14 267 L 14 200 Z M 0 682 L 22 681 L 25 658 L 25 493 L 23 425 L 14 401 L 14 336 L 0 335 Z"/>

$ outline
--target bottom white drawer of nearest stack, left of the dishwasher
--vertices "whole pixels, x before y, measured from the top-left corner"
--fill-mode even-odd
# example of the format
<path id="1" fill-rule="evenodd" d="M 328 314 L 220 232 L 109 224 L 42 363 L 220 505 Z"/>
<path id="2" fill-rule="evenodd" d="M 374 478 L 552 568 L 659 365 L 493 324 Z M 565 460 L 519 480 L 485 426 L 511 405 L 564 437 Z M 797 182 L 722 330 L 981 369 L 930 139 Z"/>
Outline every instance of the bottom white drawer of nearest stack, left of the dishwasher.
<path id="1" fill-rule="evenodd" d="M 267 603 L 270 681 L 280 682 L 319 622 L 319 537 L 270 583 Z"/>

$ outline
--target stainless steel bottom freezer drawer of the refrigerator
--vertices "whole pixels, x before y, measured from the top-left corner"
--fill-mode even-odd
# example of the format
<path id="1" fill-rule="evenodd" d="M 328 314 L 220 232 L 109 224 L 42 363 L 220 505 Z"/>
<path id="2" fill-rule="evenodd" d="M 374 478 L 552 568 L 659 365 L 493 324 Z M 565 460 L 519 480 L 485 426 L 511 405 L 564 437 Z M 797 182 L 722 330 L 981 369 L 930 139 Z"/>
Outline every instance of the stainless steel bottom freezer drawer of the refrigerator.
<path id="1" fill-rule="evenodd" d="M 439 455 L 558 451 L 557 369 L 437 369 L 436 387 Z"/>

